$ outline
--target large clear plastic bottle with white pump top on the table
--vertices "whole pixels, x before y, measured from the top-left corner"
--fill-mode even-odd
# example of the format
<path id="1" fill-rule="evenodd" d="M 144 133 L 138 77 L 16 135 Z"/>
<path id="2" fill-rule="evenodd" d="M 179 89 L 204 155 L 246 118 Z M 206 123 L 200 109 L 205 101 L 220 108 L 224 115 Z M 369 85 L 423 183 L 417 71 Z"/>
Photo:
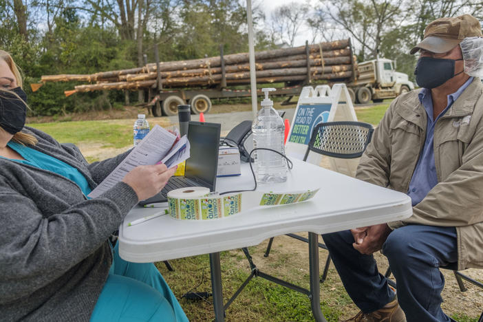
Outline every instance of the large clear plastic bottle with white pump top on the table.
<path id="1" fill-rule="evenodd" d="M 283 120 L 273 108 L 273 101 L 268 93 L 275 88 L 261 89 L 265 99 L 261 102 L 261 109 L 253 121 L 253 148 L 268 148 L 279 151 L 285 155 L 283 136 L 285 125 Z M 285 182 L 287 180 L 287 162 L 283 156 L 273 151 L 257 150 L 254 155 L 255 178 L 259 183 Z"/>

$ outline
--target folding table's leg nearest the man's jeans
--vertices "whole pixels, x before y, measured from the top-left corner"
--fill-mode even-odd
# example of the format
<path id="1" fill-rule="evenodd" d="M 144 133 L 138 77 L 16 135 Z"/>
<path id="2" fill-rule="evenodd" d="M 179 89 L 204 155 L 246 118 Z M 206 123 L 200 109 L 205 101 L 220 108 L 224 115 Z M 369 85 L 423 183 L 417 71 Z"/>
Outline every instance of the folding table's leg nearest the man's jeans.
<path id="1" fill-rule="evenodd" d="M 327 322 L 321 311 L 321 289 L 319 283 L 319 235 L 309 233 L 310 303 L 317 322 Z"/>

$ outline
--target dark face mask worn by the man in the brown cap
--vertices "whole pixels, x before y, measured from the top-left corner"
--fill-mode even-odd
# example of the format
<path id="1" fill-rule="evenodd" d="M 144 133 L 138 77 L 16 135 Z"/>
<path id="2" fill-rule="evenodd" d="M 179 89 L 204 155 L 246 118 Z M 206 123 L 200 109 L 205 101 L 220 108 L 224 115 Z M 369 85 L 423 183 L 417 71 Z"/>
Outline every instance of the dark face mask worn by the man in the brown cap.
<path id="1" fill-rule="evenodd" d="M 449 79 L 461 74 L 463 71 L 455 75 L 455 61 L 460 59 L 441 59 L 432 57 L 421 57 L 416 64 L 414 74 L 416 75 L 416 83 L 420 87 L 432 89 L 443 85 Z"/>

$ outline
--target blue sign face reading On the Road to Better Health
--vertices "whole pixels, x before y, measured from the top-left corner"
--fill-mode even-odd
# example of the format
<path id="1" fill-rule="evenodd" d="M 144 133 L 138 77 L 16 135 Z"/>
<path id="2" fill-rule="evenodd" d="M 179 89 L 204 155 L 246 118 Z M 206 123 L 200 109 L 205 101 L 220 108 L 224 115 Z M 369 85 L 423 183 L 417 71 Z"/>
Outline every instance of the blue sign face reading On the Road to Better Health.
<path id="1" fill-rule="evenodd" d="M 308 144 L 314 127 L 320 122 L 327 122 L 331 106 L 330 104 L 299 105 L 288 142 Z"/>

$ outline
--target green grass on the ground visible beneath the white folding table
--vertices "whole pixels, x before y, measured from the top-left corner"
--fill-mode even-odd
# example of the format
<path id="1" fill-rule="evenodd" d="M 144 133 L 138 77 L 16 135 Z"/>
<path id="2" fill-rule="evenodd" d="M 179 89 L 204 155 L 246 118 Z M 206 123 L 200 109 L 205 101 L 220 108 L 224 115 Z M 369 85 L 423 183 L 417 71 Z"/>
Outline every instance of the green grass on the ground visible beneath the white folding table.
<path id="1" fill-rule="evenodd" d="M 250 253 L 260 255 L 264 250 L 262 248 L 264 247 L 250 247 Z M 221 258 L 223 294 L 226 303 L 248 277 L 250 270 L 248 261 L 241 250 L 222 252 Z M 277 258 L 277 263 L 283 265 L 285 260 L 286 258 L 279 261 Z M 292 262 L 287 265 L 295 267 L 300 264 L 295 258 L 291 260 Z M 163 263 L 156 263 L 156 265 L 178 299 L 182 297 L 182 294 L 193 288 L 193 291 L 197 292 L 211 292 L 208 255 L 175 259 L 170 263 L 175 268 L 173 272 L 168 272 Z M 261 260 L 255 260 L 255 264 L 261 264 Z M 277 269 L 271 268 L 266 268 L 263 271 L 308 288 L 308 275 L 297 276 L 290 272 L 290 276 L 280 276 Z M 328 295 L 323 294 L 323 298 L 328 299 Z M 212 297 L 206 301 L 180 299 L 180 304 L 190 321 L 211 321 L 214 319 L 212 303 Z M 328 301 L 321 302 L 321 310 L 330 322 L 339 321 L 343 312 L 340 305 L 334 306 Z M 266 279 L 254 277 L 226 310 L 226 321 L 308 322 L 314 321 L 314 317 L 310 300 L 305 294 L 294 292 Z"/>

